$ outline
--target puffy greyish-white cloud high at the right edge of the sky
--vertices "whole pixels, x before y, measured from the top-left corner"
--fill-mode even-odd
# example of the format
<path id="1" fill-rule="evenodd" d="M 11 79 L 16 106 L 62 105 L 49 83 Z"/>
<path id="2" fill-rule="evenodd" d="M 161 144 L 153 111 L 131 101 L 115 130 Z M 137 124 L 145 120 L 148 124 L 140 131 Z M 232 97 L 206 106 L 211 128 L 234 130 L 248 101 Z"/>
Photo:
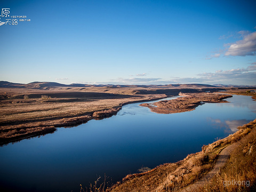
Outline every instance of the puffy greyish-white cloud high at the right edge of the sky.
<path id="1" fill-rule="evenodd" d="M 231 43 L 225 55 L 256 55 L 256 31 L 253 33 L 249 33 L 248 31 L 239 31 L 239 34 L 243 36 L 243 39 L 235 43 Z"/>

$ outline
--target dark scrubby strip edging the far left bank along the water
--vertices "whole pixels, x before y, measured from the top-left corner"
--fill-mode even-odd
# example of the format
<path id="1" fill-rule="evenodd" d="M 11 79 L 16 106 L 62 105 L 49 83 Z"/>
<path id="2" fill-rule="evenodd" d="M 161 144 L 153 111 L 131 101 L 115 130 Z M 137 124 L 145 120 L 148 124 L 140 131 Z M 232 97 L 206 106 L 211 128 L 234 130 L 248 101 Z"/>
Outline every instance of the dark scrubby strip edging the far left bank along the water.
<path id="1" fill-rule="evenodd" d="M 158 96 L 158 97 L 157 97 Z M 7 124 L 4 125 L 3 123 L 1 126 L 6 126 L 10 127 L 12 126 L 12 129 L 15 130 L 22 130 L 25 129 L 28 130 L 25 134 L 22 134 L 23 132 L 19 133 L 19 135 L 12 135 L 11 137 L 8 138 L 0 138 L 0 146 L 7 145 L 11 142 L 18 142 L 23 139 L 29 139 L 29 138 L 34 138 L 38 137 L 39 135 L 45 135 L 49 133 L 54 133 L 57 131 L 57 128 L 60 127 L 75 127 L 84 123 L 87 123 L 88 121 L 95 119 L 95 120 L 100 120 L 103 118 L 109 118 L 113 115 L 116 115 L 119 110 L 122 109 L 122 106 L 131 104 L 131 103 L 138 103 L 138 102 L 148 102 L 148 101 L 155 101 L 155 100 L 160 100 L 160 99 L 165 99 L 168 98 L 167 95 L 154 95 L 150 99 L 140 99 L 140 100 L 134 100 L 134 101 L 127 101 L 127 102 L 122 102 L 119 103 L 118 106 L 109 108 L 109 109 L 103 109 L 103 110 L 93 110 L 89 111 L 86 114 L 83 115 L 74 115 L 74 116 L 62 116 L 58 118 L 52 118 L 49 120 L 43 119 L 43 121 L 38 121 L 40 119 L 35 119 L 34 121 L 20 121 L 18 122 L 13 122 L 13 124 Z M 16 123 L 16 124 L 15 124 Z M 4 127 L 4 128 L 6 128 Z M 29 129 L 34 129 L 34 130 L 29 130 Z"/>

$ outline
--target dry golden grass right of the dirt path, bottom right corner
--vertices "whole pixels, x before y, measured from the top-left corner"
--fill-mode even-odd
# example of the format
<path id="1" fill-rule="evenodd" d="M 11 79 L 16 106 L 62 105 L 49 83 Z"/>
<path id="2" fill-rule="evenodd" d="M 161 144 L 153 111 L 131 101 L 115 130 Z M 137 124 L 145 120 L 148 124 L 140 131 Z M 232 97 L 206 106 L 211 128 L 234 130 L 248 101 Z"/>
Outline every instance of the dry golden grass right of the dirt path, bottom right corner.
<path id="1" fill-rule="evenodd" d="M 255 127 L 255 125 L 254 125 Z M 238 141 L 229 161 L 220 174 L 197 191 L 255 191 L 256 190 L 256 129 Z"/>

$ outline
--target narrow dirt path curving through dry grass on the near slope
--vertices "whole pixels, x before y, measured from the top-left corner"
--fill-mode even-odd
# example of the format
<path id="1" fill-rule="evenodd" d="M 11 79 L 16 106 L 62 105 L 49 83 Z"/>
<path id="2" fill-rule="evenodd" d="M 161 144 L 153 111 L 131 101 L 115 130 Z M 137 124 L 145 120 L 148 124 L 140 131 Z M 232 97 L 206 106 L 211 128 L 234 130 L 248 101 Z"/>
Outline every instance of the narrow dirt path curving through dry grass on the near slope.
<path id="1" fill-rule="evenodd" d="M 204 186 L 206 184 L 206 182 L 208 182 L 209 179 L 211 179 L 215 174 L 217 174 L 220 171 L 220 168 L 223 167 L 227 163 L 230 153 L 236 148 L 236 146 L 237 146 L 237 143 L 233 143 L 233 144 L 227 146 L 226 148 L 224 148 L 220 152 L 219 158 L 217 159 L 215 166 L 209 173 L 207 173 L 199 181 L 197 181 L 183 189 L 180 189 L 179 191 L 180 192 L 196 191 L 196 189 L 199 186 Z"/>

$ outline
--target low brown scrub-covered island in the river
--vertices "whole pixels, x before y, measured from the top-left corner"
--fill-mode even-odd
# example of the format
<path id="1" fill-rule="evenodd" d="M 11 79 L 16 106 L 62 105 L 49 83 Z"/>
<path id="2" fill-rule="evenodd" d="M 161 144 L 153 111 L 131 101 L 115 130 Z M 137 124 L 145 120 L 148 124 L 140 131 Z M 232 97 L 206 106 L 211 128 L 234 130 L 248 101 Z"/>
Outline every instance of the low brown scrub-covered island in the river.
<path id="1" fill-rule="evenodd" d="M 182 113 L 195 110 L 197 106 L 203 105 L 206 102 L 227 102 L 223 99 L 232 97 L 232 95 L 215 93 L 180 93 L 180 95 L 183 97 L 173 100 L 158 101 L 153 104 L 142 103 L 140 106 L 148 107 L 151 111 L 159 114 Z"/>

